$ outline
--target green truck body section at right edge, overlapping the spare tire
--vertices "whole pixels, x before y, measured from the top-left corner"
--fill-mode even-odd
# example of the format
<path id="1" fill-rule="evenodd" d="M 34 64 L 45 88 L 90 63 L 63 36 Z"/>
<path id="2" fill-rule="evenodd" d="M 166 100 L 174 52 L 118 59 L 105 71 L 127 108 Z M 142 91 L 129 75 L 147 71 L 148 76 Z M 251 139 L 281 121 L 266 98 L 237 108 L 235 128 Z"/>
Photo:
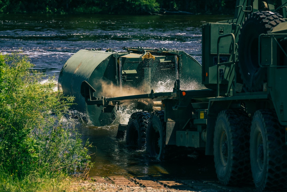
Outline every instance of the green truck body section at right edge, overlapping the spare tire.
<path id="1" fill-rule="evenodd" d="M 267 92 L 282 125 L 287 125 L 287 22 L 259 38 L 261 67 L 267 67 Z M 285 39 L 284 39 L 285 38 Z"/>

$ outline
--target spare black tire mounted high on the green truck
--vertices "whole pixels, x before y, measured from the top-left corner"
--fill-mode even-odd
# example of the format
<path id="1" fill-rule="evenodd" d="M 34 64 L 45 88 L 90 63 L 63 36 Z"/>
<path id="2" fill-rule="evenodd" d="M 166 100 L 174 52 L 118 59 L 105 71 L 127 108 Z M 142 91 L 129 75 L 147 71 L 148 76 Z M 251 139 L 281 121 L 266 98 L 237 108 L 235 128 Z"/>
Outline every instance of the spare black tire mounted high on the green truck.
<path id="1" fill-rule="evenodd" d="M 285 20 L 280 14 L 269 11 L 251 13 L 243 22 L 238 41 L 238 65 L 248 91 L 263 91 L 267 79 L 266 68 L 260 67 L 258 62 L 258 37 L 270 33 L 281 22 Z"/>

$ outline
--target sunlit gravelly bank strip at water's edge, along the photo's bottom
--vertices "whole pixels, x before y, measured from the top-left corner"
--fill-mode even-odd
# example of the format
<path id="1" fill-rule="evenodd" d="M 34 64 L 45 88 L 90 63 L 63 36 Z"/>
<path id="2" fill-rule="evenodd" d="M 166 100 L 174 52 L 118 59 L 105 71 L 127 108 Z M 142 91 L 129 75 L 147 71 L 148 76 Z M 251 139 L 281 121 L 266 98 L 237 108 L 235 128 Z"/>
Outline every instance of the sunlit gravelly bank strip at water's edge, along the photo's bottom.
<path id="1" fill-rule="evenodd" d="M 105 191 L 105 192 L 255 192 L 250 183 L 241 186 L 223 186 L 217 180 L 169 180 L 166 177 L 91 177 L 87 180 L 70 180 L 69 192 Z"/>

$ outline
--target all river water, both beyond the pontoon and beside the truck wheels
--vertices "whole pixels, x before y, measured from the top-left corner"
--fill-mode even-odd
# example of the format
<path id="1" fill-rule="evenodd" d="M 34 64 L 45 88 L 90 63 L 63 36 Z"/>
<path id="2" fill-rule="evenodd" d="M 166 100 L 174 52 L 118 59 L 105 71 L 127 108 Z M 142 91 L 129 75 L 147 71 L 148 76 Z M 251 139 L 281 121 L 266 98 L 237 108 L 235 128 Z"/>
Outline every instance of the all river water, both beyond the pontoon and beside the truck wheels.
<path id="1" fill-rule="evenodd" d="M 149 47 L 183 50 L 201 63 L 201 28 L 206 22 L 227 20 L 224 15 L 30 15 L 0 14 L 0 53 L 23 52 L 35 69 L 47 77 L 59 76 L 68 58 L 80 49 Z M 121 123 L 128 115 L 120 111 Z M 144 151 L 132 151 L 125 140 L 115 138 L 117 125 L 78 125 L 90 149 L 94 168 L 90 176 L 172 175 L 216 179 L 213 160 L 189 155 L 172 162 L 157 162 Z"/>

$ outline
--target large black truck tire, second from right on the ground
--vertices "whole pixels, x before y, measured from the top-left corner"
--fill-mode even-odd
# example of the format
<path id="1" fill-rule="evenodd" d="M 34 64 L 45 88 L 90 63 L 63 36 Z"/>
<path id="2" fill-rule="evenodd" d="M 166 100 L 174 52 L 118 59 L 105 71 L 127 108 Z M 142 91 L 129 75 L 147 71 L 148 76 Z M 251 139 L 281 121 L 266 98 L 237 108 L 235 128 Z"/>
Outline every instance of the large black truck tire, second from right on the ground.
<path id="1" fill-rule="evenodd" d="M 251 181 L 249 133 L 251 120 L 243 110 L 221 111 L 214 130 L 214 163 L 222 185 Z"/>

